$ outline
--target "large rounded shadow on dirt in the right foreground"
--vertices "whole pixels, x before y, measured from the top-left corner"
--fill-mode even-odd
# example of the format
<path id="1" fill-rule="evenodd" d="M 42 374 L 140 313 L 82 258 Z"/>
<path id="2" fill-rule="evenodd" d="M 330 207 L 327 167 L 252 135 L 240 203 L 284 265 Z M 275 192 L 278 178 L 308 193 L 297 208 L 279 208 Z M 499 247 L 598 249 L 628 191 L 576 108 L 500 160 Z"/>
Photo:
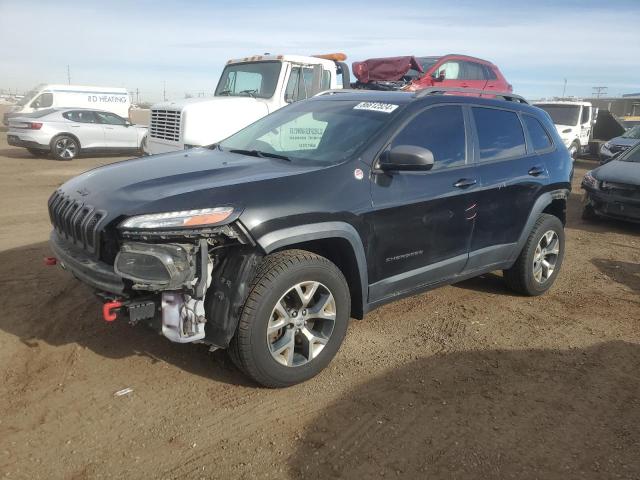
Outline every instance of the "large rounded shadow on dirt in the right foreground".
<path id="1" fill-rule="evenodd" d="M 306 428 L 305 478 L 638 478 L 640 347 L 477 351 L 365 383 Z"/>

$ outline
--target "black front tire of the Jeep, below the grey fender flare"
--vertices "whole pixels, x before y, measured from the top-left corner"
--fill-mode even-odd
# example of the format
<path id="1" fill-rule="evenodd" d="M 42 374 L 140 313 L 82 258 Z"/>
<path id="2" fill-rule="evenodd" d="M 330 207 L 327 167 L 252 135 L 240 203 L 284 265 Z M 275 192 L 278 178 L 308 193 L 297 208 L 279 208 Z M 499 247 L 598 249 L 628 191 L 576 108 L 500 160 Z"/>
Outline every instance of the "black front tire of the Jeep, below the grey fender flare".
<path id="1" fill-rule="evenodd" d="M 287 366 L 279 363 L 272 355 L 271 347 L 278 340 L 270 343 L 267 327 L 276 304 L 301 282 L 318 282 L 320 287 L 317 292 L 324 287 L 323 291 L 328 291 L 333 296 L 335 320 L 331 324 L 332 331 L 328 334 L 327 343 L 315 358 L 299 366 Z M 347 281 L 338 267 L 329 260 L 304 250 L 288 250 L 268 255 L 252 282 L 236 334 L 231 341 L 229 355 L 240 370 L 262 386 L 287 387 L 304 382 L 324 369 L 338 352 L 347 332 L 350 311 L 351 298 Z M 304 328 L 307 328 L 306 324 Z M 298 335 L 295 333 L 297 330 L 292 331 L 291 335 Z M 284 332 L 280 337 L 282 339 L 290 330 L 285 327 L 280 332 Z M 295 348 L 299 348 L 297 340 L 296 337 Z M 299 353 L 296 355 L 301 358 Z"/>

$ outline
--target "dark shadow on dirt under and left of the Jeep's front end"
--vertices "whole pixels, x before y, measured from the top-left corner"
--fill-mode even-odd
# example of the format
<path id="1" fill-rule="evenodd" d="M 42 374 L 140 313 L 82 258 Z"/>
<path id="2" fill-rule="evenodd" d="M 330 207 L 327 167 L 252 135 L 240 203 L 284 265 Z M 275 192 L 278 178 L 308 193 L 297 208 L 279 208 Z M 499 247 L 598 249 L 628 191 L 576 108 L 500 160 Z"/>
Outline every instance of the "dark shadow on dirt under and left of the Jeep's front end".
<path id="1" fill-rule="evenodd" d="M 60 267 L 45 266 L 46 242 L 0 252 L 0 329 L 29 346 L 76 343 L 108 358 L 142 355 L 218 381 L 249 385 L 222 351 L 175 344 L 144 325 L 106 323 L 92 290 Z"/>

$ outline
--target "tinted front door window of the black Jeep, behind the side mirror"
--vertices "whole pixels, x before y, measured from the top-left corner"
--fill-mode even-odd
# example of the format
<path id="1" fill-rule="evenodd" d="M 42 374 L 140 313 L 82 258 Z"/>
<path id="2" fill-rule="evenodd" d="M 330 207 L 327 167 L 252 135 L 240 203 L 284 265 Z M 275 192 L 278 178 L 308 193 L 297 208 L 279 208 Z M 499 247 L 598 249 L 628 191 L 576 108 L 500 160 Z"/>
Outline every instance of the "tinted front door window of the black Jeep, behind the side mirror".
<path id="1" fill-rule="evenodd" d="M 393 139 L 391 147 L 397 145 L 431 150 L 434 158 L 432 170 L 464 165 L 466 137 L 462 108 L 446 105 L 419 113 Z"/>

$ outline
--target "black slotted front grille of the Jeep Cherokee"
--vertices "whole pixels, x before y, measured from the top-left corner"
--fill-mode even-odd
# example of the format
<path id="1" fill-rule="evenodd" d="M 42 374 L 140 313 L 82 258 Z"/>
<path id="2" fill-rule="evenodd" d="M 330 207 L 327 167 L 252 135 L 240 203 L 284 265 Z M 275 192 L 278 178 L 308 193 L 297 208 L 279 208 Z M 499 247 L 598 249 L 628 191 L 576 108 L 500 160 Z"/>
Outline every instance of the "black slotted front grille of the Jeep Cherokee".
<path id="1" fill-rule="evenodd" d="M 62 192 L 49 199 L 49 218 L 60 238 L 95 256 L 100 246 L 98 227 L 105 216 L 106 212 L 72 200 Z"/>

